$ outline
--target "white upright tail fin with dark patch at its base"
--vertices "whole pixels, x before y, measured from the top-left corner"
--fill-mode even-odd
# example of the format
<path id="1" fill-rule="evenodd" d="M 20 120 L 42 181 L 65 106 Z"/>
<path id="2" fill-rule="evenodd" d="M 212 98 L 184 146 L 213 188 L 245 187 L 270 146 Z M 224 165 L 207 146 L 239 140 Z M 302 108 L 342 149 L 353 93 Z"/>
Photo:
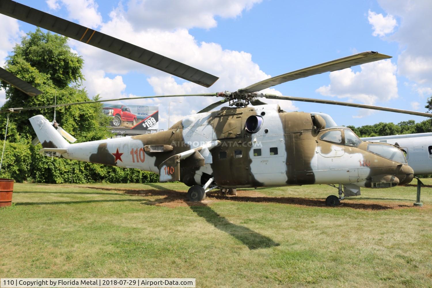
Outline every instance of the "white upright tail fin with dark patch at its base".
<path id="1" fill-rule="evenodd" d="M 43 148 L 67 148 L 69 143 L 55 130 L 42 115 L 36 115 L 29 119 Z"/>

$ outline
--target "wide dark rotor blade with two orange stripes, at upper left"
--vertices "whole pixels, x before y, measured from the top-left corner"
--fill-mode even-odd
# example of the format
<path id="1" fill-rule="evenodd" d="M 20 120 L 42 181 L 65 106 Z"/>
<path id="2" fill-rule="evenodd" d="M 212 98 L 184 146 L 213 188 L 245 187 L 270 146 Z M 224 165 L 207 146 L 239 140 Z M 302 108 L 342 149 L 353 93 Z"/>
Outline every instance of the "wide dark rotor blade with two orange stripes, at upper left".
<path id="1" fill-rule="evenodd" d="M 144 65 L 162 70 L 204 87 L 210 87 L 219 77 L 184 63 L 111 37 L 74 22 L 42 12 L 11 0 L 0 1 L 0 13 L 36 25 L 69 38 L 85 42 L 105 51 L 129 58 Z M 109 65 L 109 63 L 107 63 Z"/>

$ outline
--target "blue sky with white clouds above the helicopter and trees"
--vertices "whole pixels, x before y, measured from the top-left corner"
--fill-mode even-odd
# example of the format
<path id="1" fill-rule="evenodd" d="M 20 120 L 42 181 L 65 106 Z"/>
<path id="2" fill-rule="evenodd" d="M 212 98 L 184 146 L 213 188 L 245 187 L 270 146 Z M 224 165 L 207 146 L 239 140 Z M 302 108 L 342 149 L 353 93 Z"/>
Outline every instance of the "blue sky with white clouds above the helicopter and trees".
<path id="1" fill-rule="evenodd" d="M 273 87 L 281 95 L 353 101 L 425 111 L 432 95 L 430 15 L 432 5 L 407 1 L 98 1 L 19 0 L 20 3 L 91 26 L 114 37 L 172 57 L 221 78 L 209 89 L 143 67 L 127 59 L 70 41 L 85 60 L 90 96 L 103 98 L 236 90 L 254 82 L 356 52 L 378 51 L 393 56 L 340 73 L 323 73 Z M 407 2 L 407 3 L 405 3 Z M 0 64 L 18 35 L 32 25 L 0 18 L 10 25 L 0 36 Z M 6 40 L 4 39 L 6 38 Z M 430 65 L 429 65 L 430 64 Z M 0 97 L 2 97 L 0 92 Z M 4 96 L 3 96 L 4 97 Z M 171 122 L 217 99 L 178 98 Z M 160 128 L 167 127 L 169 100 L 156 104 Z M 276 103 L 273 101 L 269 101 Z M 321 111 L 336 123 L 361 126 L 380 121 L 398 123 L 416 117 L 369 112 L 324 104 L 279 101 L 287 111 Z"/>

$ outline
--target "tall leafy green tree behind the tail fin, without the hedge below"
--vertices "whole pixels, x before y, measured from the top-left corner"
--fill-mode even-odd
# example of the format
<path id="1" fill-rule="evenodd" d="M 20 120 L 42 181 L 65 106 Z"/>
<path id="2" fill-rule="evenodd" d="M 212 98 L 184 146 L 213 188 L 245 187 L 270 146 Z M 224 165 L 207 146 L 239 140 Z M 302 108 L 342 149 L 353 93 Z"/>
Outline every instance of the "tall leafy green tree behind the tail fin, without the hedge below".
<path id="1" fill-rule="evenodd" d="M 6 70 L 41 90 L 41 95 L 31 97 L 2 82 L 6 89 L 3 109 L 32 107 L 57 103 L 89 101 L 87 92 L 81 88 L 84 76 L 81 73 L 83 59 L 73 53 L 67 45 L 67 38 L 44 33 L 37 28 L 22 38 L 21 44 L 13 49 L 13 55 L 6 61 Z M 57 108 L 57 122 L 79 141 L 101 139 L 108 136 L 106 117 L 101 116 L 102 104 L 88 104 Z M 54 109 L 22 111 L 10 115 L 10 141 L 29 141 L 35 133 L 29 125 L 29 118 L 35 113 L 48 120 L 54 117 Z M 1 118 L 4 129 L 6 116 Z M 4 131 L 3 131 L 4 133 Z"/>

